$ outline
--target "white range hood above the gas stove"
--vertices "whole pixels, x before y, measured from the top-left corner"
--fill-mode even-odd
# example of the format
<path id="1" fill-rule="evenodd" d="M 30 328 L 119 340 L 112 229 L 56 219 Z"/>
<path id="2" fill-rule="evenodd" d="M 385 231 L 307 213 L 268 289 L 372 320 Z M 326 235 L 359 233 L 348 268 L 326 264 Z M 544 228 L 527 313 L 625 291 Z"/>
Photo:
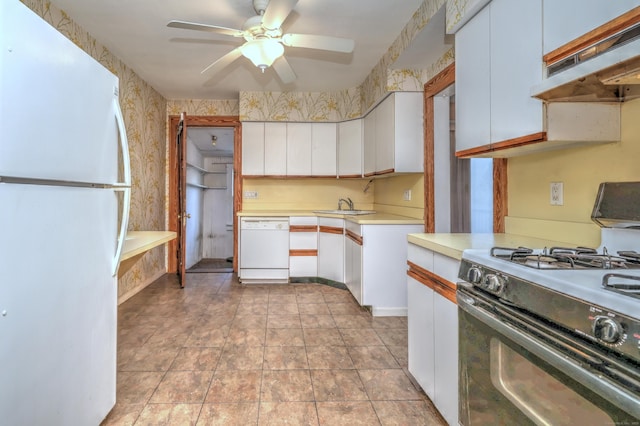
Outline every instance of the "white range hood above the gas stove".
<path id="1" fill-rule="evenodd" d="M 624 102 L 640 97 L 640 24 L 552 63 L 533 87 L 545 101 Z"/>

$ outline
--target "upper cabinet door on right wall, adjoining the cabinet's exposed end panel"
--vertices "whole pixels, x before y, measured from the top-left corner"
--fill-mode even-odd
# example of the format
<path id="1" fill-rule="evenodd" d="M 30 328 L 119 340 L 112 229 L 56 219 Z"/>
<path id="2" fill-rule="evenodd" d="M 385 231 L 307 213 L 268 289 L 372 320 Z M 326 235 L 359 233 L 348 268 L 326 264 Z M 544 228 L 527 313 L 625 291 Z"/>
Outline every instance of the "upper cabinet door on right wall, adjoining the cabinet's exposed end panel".
<path id="1" fill-rule="evenodd" d="M 376 172 L 393 172 L 395 142 L 395 94 L 376 107 Z"/>

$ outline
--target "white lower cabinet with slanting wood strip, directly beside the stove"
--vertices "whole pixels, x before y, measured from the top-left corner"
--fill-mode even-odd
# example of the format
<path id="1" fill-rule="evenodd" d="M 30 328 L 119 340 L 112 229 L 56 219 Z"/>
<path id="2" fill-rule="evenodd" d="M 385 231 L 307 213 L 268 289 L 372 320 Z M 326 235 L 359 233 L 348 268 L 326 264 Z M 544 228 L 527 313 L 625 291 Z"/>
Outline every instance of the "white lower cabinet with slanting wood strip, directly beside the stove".
<path id="1" fill-rule="evenodd" d="M 409 372 L 451 425 L 458 424 L 459 261 L 409 244 Z"/>

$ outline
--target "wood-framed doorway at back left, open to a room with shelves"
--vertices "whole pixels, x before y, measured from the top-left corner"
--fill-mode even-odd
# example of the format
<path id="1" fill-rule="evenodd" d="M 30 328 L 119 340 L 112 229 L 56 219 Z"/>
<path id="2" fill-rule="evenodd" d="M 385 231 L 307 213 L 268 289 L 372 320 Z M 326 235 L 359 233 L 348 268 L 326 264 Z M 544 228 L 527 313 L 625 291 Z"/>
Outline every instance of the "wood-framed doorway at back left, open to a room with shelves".
<path id="1" fill-rule="evenodd" d="M 212 223 L 211 217 L 214 212 L 207 211 L 206 205 L 207 203 L 215 202 L 216 198 L 224 198 L 225 195 L 228 197 L 227 200 L 232 200 L 231 217 L 229 218 L 229 211 L 224 207 L 219 209 L 221 212 L 216 212 L 215 214 L 216 217 L 218 217 L 218 213 L 224 217 L 225 232 L 232 234 L 232 255 L 224 255 L 224 265 L 228 267 L 227 264 L 230 263 L 232 270 L 237 271 L 238 231 L 236 213 L 242 209 L 242 198 L 239 195 L 242 193 L 242 179 L 240 174 L 242 164 L 240 149 L 242 146 L 242 128 L 239 117 L 237 116 L 188 116 L 184 114 L 182 127 L 179 127 L 180 123 L 180 116 L 169 117 L 169 140 L 171 142 L 169 144 L 168 155 L 169 229 L 176 231 L 178 238 L 169 244 L 168 272 L 177 272 L 180 276 L 180 284 L 184 286 L 183 272 L 185 272 L 187 262 L 195 265 L 197 262 L 194 263 L 194 259 L 198 259 L 200 255 L 205 255 L 203 251 L 205 247 L 207 247 L 208 250 L 206 256 L 222 256 L 219 254 L 222 252 L 210 251 L 211 246 L 207 246 L 207 244 L 203 244 L 203 242 L 207 239 L 216 239 L 216 235 L 213 232 L 213 225 L 207 228 L 207 220 L 209 220 L 209 224 Z M 183 129 L 183 139 L 186 142 L 184 143 L 184 150 L 186 151 L 184 155 L 186 160 L 184 162 L 185 164 L 182 164 L 179 160 L 181 155 L 178 155 L 182 148 L 179 150 L 178 144 L 175 143 L 175 141 L 179 139 L 178 130 L 180 128 Z M 210 152 L 204 153 L 202 152 L 203 150 L 197 148 L 194 138 L 190 136 L 192 132 L 195 132 L 196 139 L 201 139 L 205 137 L 204 135 L 208 135 L 206 142 L 208 145 L 211 145 L 211 148 L 207 146 L 207 150 Z M 225 136 L 225 132 L 230 132 L 233 135 L 233 154 L 231 157 L 219 155 L 221 148 L 216 147 L 222 143 L 220 137 Z M 213 135 L 216 136 L 216 146 L 212 143 L 214 141 Z M 218 149 L 220 149 L 220 151 L 218 151 Z M 229 150 L 229 148 L 226 148 L 227 152 Z M 202 160 L 202 163 L 197 164 L 200 160 Z M 190 165 L 187 166 L 186 164 Z M 222 173 L 223 170 L 224 173 Z M 182 187 L 182 183 L 180 183 L 181 176 L 183 177 L 183 182 L 189 183 L 189 185 L 184 185 L 184 190 L 180 190 Z M 231 179 L 230 182 L 229 177 Z M 226 185 L 226 188 L 231 188 L 230 193 L 227 192 L 227 189 L 205 189 L 207 187 L 222 187 L 223 181 L 225 182 L 224 185 Z M 225 195 L 208 196 L 205 194 L 208 192 L 212 194 L 217 192 L 218 194 Z M 192 197 L 187 196 L 186 194 L 188 193 L 199 195 Z M 181 194 L 185 195 L 181 196 Z M 214 201 L 205 200 L 208 198 L 212 198 Z M 224 201 L 220 203 L 220 206 L 224 205 L 228 206 Z M 197 212 L 197 215 L 202 220 L 202 225 L 200 225 L 200 219 L 197 221 L 192 220 L 194 219 L 192 211 Z M 226 231 L 226 229 L 229 228 L 229 222 L 231 223 L 231 231 Z M 219 221 L 216 223 L 219 223 Z M 211 232 L 207 233 L 207 230 Z M 208 238 L 209 235 L 212 235 L 212 238 Z M 183 236 L 184 239 L 182 238 Z M 183 241 L 184 243 L 182 243 Z M 182 246 L 181 250 L 178 249 L 179 244 Z M 228 248 L 228 245 L 225 244 L 222 244 L 222 247 Z M 187 252 L 190 253 L 189 259 L 187 259 Z M 229 257 L 231 257 L 231 262 L 227 262 L 227 258 Z"/>

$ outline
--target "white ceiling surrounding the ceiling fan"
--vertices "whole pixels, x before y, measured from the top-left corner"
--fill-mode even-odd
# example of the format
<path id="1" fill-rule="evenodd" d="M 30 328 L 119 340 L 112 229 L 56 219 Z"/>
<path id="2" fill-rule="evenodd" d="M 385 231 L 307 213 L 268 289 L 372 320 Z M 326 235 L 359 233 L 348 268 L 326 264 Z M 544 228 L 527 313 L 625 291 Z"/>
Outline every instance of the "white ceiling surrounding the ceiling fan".
<path id="1" fill-rule="evenodd" d="M 424 0 L 299 0 L 282 28 L 355 40 L 351 54 L 285 48 L 298 75 L 283 85 L 241 57 L 217 74 L 200 72 L 243 39 L 168 28 L 184 20 L 241 28 L 255 15 L 251 0 L 51 0 L 167 99 L 237 99 L 239 91 L 325 92 L 360 85 Z M 420 61 L 403 55 L 403 64 Z"/>

